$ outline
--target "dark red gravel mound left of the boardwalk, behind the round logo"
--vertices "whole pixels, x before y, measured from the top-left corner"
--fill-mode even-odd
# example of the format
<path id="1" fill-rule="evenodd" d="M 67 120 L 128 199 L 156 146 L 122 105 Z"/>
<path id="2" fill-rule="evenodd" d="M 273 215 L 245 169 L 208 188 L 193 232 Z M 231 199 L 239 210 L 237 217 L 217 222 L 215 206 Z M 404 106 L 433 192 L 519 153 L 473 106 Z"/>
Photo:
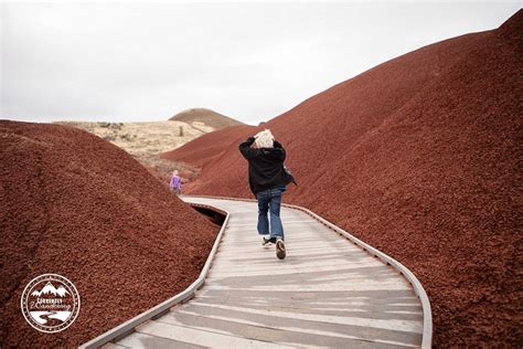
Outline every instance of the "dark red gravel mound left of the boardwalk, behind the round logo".
<path id="1" fill-rule="evenodd" d="M 218 228 L 124 150 L 86 131 L 0 121 L 0 347 L 74 347 L 193 283 Z M 23 318 L 32 278 L 61 274 L 82 308 L 58 334 Z"/>

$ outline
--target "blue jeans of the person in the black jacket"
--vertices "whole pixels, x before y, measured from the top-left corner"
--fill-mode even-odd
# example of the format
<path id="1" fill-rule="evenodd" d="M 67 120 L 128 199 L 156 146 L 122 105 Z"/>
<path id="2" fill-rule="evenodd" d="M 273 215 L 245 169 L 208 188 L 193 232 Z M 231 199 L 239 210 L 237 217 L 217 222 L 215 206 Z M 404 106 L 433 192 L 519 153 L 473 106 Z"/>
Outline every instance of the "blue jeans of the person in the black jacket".
<path id="1" fill-rule="evenodd" d="M 284 239 L 284 225 L 281 225 L 281 219 L 279 218 L 284 190 L 284 188 L 267 189 L 256 194 L 258 199 L 258 234 L 269 234 L 267 213 L 270 210 L 270 237 Z"/>

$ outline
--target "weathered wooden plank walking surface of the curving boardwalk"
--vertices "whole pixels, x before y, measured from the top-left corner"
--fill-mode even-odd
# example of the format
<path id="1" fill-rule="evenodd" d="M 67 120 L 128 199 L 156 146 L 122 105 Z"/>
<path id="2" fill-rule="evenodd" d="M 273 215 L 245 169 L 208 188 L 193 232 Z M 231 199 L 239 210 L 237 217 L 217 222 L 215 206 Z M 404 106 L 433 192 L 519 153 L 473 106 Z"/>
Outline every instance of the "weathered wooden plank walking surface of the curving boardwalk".
<path id="1" fill-rule="evenodd" d="M 309 214 L 281 208 L 287 257 L 257 235 L 255 202 L 185 198 L 230 213 L 195 297 L 107 347 L 419 347 L 423 307 L 406 279 Z"/>

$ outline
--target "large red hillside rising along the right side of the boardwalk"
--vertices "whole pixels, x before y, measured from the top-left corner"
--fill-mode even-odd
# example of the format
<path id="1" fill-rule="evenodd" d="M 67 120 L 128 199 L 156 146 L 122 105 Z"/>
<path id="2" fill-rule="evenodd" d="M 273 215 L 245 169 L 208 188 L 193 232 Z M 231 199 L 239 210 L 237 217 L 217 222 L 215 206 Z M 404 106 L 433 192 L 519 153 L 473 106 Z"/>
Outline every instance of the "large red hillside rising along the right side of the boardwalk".
<path id="1" fill-rule="evenodd" d="M 519 11 L 498 30 L 399 56 L 264 125 L 300 183 L 285 200 L 410 268 L 431 302 L 436 347 L 523 343 L 522 34 Z M 258 129 L 216 131 L 171 152 L 215 156 L 194 161 L 203 170 L 185 190 L 252 198 L 237 145 Z"/>

